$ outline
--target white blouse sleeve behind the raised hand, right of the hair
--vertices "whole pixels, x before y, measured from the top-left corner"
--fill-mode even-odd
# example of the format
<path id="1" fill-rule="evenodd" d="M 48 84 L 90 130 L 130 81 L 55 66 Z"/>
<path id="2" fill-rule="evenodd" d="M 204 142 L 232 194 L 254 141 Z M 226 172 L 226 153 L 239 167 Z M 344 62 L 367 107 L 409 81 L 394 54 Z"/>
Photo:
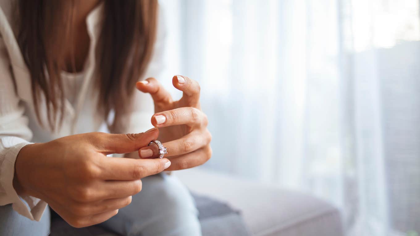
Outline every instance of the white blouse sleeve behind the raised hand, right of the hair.
<path id="1" fill-rule="evenodd" d="M 164 50 L 166 42 L 166 25 L 163 15 L 163 10 L 159 8 L 159 18 L 157 25 L 157 37 L 152 54 L 152 59 L 150 60 L 149 66 L 147 67 L 144 76 L 140 80 L 154 77 L 159 79 L 162 71 L 165 68 L 164 63 Z M 126 116 L 120 119 L 116 126 L 116 129 L 111 131 L 112 133 L 117 134 L 127 134 L 127 133 L 140 133 L 144 132 L 150 128 L 153 128 L 150 119 L 154 114 L 155 107 L 150 94 L 145 94 L 140 92 L 135 87 L 133 102 L 131 107 L 131 112 L 127 113 Z"/>

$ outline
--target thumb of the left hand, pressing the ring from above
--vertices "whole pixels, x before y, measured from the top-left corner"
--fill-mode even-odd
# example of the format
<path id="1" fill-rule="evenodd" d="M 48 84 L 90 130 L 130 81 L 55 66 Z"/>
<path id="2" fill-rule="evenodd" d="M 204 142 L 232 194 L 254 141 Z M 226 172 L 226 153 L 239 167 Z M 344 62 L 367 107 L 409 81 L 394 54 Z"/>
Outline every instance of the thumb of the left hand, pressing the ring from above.
<path id="1" fill-rule="evenodd" d="M 136 152 L 141 147 L 147 146 L 159 136 L 159 129 L 152 128 L 139 134 L 107 134 L 97 145 L 98 151 L 106 155 L 112 153 Z"/>

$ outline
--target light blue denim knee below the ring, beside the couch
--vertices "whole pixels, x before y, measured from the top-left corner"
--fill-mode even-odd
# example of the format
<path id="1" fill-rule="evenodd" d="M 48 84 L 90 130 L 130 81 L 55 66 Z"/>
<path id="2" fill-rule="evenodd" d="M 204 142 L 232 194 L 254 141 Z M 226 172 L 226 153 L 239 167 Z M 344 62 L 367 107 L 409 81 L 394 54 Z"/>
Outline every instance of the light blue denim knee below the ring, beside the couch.
<path id="1" fill-rule="evenodd" d="M 142 183 L 131 204 L 102 226 L 122 235 L 201 235 L 194 199 L 175 176 L 148 176 Z"/>

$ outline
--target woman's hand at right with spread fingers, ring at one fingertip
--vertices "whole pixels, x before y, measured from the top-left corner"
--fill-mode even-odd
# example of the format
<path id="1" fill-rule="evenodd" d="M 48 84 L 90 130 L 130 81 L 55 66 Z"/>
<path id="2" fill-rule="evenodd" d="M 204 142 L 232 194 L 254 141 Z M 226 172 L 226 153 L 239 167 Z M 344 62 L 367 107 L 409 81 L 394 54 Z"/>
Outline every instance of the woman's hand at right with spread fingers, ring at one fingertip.
<path id="1" fill-rule="evenodd" d="M 165 157 L 171 159 L 167 170 L 181 170 L 201 165 L 210 159 L 211 135 L 207 130 L 207 116 L 200 108 L 200 87 L 197 81 L 185 76 L 173 76 L 172 84 L 183 92 L 178 101 L 154 78 L 139 81 L 137 89 L 150 93 L 155 102 L 152 124 L 160 128 L 159 141 L 167 148 Z M 156 156 L 157 148 L 143 147 L 139 156 Z"/>

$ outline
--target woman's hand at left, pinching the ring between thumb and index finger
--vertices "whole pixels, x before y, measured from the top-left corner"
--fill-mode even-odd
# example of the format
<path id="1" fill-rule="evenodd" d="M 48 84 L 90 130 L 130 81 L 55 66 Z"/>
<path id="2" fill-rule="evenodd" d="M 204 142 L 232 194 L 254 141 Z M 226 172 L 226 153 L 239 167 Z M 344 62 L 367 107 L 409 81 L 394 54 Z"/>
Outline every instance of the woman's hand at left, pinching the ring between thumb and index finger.
<path id="1" fill-rule="evenodd" d="M 147 146 L 159 134 L 86 133 L 24 146 L 16 158 L 13 186 L 21 196 L 45 200 L 71 226 L 108 220 L 142 189 L 141 178 L 160 173 L 166 159 L 106 157 Z"/>

